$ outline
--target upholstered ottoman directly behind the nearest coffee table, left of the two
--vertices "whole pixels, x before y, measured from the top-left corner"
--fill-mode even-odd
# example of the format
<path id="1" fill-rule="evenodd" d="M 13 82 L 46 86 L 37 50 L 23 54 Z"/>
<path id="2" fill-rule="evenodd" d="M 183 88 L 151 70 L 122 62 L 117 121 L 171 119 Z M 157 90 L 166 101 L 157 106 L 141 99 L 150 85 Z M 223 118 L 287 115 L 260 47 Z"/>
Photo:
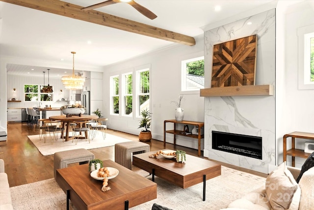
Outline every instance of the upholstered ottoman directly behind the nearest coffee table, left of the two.
<path id="1" fill-rule="evenodd" d="M 79 163 L 79 164 L 89 163 L 89 161 L 92 159 L 95 159 L 95 155 L 92 152 L 85 149 L 55 152 L 53 156 L 54 179 L 56 179 L 57 169 L 66 168 L 68 167 L 68 164 L 72 164 L 72 163 Z"/>

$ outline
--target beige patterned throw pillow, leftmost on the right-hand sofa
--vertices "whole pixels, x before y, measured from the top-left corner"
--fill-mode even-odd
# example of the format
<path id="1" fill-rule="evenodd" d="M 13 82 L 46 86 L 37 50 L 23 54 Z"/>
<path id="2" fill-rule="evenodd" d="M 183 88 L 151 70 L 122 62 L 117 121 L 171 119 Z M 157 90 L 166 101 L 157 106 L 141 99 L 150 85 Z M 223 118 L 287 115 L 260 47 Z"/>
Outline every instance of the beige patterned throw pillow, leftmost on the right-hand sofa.
<path id="1" fill-rule="evenodd" d="M 286 161 L 266 178 L 266 195 L 274 210 L 289 209 L 298 184 L 286 167 Z"/>

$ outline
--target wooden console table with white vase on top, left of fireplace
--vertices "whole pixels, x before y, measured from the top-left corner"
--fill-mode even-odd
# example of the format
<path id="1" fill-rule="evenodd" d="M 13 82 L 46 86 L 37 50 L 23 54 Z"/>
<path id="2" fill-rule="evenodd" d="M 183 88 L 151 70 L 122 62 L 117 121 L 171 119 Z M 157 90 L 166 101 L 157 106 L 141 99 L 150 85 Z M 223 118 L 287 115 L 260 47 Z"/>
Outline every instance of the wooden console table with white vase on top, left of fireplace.
<path id="1" fill-rule="evenodd" d="M 166 123 L 172 122 L 173 123 L 173 130 L 166 130 Z M 187 124 L 187 125 L 194 125 L 198 127 L 198 135 L 196 134 L 182 134 L 183 130 L 177 130 L 177 124 Z M 179 136 L 186 136 L 190 138 L 198 139 L 198 156 L 201 156 L 201 139 L 204 138 L 204 135 L 201 135 L 201 128 L 204 127 L 204 122 L 194 122 L 194 121 L 177 121 L 177 120 L 164 120 L 163 122 L 163 148 L 166 148 L 166 133 L 173 134 L 173 144 L 176 145 L 176 135 Z"/>

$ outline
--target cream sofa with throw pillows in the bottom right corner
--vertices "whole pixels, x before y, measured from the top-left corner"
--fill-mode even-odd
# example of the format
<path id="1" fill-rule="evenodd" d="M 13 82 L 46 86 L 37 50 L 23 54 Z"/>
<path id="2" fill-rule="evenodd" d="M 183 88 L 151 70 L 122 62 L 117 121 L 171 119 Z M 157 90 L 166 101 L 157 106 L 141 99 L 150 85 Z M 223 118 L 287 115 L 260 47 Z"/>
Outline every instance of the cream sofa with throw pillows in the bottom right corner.
<path id="1" fill-rule="evenodd" d="M 314 167 L 297 183 L 299 174 L 300 169 L 284 162 L 268 175 L 265 186 L 235 200 L 224 210 L 313 210 Z"/>

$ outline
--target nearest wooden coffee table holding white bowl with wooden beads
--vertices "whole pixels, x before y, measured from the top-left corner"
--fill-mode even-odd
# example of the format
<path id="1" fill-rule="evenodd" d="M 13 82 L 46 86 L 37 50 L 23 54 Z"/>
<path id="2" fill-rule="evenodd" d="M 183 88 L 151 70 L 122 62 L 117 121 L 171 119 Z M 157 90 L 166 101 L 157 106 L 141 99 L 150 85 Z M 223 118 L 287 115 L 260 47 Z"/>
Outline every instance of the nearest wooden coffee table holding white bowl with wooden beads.
<path id="1" fill-rule="evenodd" d="M 109 191 L 103 192 L 102 180 L 95 180 L 88 172 L 88 164 L 57 169 L 56 181 L 78 210 L 126 210 L 157 198 L 157 184 L 131 170 L 104 160 L 104 167 L 119 170 L 119 175 L 108 180 Z"/>

